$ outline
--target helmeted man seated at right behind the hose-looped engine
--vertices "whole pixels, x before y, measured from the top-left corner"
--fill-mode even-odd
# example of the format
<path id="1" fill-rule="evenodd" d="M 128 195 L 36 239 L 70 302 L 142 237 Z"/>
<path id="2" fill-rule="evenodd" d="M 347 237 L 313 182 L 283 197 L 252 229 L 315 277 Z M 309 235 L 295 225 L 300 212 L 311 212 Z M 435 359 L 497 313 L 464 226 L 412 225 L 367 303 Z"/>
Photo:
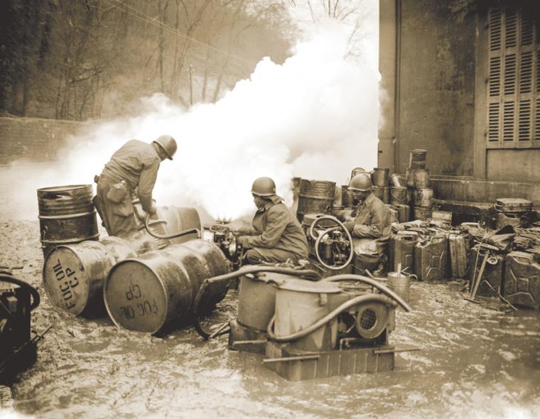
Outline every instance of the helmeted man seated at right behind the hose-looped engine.
<path id="1" fill-rule="evenodd" d="M 384 271 L 388 241 L 392 234 L 390 210 L 371 192 L 369 173 L 360 173 L 350 180 L 349 190 L 358 206 L 345 219 L 355 251 L 355 268 Z"/>

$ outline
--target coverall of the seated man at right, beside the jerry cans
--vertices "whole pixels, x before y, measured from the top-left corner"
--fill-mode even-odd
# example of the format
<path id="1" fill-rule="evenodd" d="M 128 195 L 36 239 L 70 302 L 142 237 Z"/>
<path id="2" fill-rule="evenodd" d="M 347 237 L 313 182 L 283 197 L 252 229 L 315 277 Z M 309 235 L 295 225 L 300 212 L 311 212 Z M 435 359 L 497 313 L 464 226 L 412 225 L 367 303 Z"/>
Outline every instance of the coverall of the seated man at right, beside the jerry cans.
<path id="1" fill-rule="evenodd" d="M 351 232 L 355 258 L 360 262 L 355 266 L 374 268 L 382 260 L 392 235 L 391 212 L 382 200 L 369 193 L 352 217 L 355 219 L 345 222 L 345 227 Z"/>

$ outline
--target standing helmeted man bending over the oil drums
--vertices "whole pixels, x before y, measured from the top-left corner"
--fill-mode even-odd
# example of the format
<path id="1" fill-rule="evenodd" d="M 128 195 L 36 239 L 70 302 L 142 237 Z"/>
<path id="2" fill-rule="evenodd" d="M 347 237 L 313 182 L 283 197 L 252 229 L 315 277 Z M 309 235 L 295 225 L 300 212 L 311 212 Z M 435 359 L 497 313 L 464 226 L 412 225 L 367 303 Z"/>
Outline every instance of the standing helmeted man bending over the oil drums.
<path id="1" fill-rule="evenodd" d="M 156 213 L 152 201 L 161 161 L 173 160 L 177 149 L 172 136 L 163 135 L 152 143 L 130 140 L 111 157 L 97 177 L 95 205 L 110 236 L 125 236 L 136 230 L 131 194 L 135 188 L 144 211 Z"/>

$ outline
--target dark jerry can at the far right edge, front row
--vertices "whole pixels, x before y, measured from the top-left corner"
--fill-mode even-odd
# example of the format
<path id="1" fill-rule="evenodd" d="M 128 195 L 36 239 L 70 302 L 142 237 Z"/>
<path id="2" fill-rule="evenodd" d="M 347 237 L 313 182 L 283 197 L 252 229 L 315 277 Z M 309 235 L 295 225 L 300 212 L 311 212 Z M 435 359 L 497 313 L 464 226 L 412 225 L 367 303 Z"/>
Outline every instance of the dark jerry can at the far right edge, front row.
<path id="1" fill-rule="evenodd" d="M 512 304 L 540 308 L 540 264 L 532 254 L 524 251 L 507 254 L 503 295 Z"/>

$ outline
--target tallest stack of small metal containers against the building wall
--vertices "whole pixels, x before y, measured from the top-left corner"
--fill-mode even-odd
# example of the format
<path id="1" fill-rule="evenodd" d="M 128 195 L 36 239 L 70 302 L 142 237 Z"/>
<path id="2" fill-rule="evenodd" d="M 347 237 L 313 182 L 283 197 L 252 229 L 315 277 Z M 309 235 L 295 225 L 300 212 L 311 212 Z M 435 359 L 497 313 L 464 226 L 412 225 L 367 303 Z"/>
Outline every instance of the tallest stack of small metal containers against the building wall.
<path id="1" fill-rule="evenodd" d="M 425 220 L 431 218 L 433 189 L 429 183 L 429 170 L 426 169 L 426 150 L 411 150 L 409 168 L 406 170 L 407 187 L 411 194 L 411 217 Z"/>

